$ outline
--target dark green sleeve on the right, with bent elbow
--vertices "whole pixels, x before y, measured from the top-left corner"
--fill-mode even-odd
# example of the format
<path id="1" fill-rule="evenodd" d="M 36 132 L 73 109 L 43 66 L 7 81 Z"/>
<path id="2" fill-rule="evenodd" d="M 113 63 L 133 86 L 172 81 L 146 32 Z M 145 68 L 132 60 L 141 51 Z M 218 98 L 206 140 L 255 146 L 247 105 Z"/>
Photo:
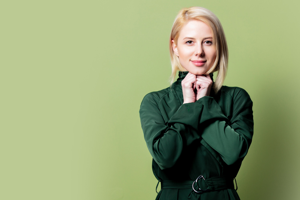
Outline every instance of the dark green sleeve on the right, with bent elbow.
<path id="1" fill-rule="evenodd" d="M 208 121 L 200 121 L 202 138 L 217 151 L 227 165 L 241 162 L 246 156 L 253 137 L 252 100 L 248 93 L 239 88 L 233 95 L 232 116 L 230 120 L 222 113 L 220 106 L 212 97 L 202 97 L 196 101 L 203 105 L 202 116 Z M 212 119 L 211 112 L 219 117 Z M 215 114 L 214 114 L 215 115 Z"/>

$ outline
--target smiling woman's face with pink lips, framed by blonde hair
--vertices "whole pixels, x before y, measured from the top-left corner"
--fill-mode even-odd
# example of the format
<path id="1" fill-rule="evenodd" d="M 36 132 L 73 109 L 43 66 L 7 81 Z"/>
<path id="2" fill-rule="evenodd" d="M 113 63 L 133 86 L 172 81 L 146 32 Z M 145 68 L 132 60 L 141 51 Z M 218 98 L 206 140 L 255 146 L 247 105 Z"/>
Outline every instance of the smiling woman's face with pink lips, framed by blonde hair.
<path id="1" fill-rule="evenodd" d="M 199 20 L 191 20 L 179 32 L 173 51 L 185 70 L 195 75 L 205 74 L 216 59 L 215 45 L 210 27 Z"/>

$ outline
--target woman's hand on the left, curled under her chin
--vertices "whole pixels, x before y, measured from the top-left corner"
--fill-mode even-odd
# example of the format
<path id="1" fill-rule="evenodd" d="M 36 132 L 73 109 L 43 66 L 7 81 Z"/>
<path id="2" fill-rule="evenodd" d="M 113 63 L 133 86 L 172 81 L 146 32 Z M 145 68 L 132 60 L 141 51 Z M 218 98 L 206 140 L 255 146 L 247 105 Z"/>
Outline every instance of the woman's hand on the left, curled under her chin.
<path id="1" fill-rule="evenodd" d="M 196 102 L 195 88 L 196 88 L 196 75 L 188 73 L 181 82 L 183 103 L 194 103 Z"/>

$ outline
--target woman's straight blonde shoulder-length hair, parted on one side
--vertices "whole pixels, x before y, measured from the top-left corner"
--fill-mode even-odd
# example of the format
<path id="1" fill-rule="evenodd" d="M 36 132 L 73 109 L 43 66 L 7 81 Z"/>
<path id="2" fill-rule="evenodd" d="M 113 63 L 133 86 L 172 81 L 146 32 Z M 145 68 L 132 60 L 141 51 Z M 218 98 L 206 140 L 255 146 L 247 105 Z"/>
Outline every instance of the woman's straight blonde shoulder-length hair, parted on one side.
<path id="1" fill-rule="evenodd" d="M 214 61 L 214 64 L 211 66 L 211 68 L 208 70 L 207 74 L 218 71 L 217 78 L 215 79 L 213 85 L 213 89 L 217 93 L 222 87 L 227 73 L 228 47 L 221 22 L 219 21 L 217 16 L 215 16 L 214 13 L 202 7 L 183 8 L 179 11 L 173 23 L 169 41 L 172 65 L 172 74 L 170 77 L 171 85 L 175 80 L 177 70 L 185 71 L 185 69 L 179 62 L 178 56 L 175 55 L 175 53 L 173 52 L 172 40 L 174 40 L 174 43 L 177 44 L 179 33 L 182 27 L 190 20 L 202 21 L 211 28 L 213 34 L 212 43 L 216 48 L 216 60 Z"/>

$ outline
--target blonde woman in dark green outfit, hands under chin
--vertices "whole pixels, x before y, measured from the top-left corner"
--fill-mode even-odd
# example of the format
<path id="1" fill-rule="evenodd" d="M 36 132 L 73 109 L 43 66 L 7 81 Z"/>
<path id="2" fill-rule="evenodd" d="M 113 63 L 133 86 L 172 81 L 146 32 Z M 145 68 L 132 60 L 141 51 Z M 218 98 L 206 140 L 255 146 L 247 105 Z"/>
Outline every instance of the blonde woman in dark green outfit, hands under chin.
<path id="1" fill-rule="evenodd" d="M 182 9 L 170 55 L 172 78 L 177 70 L 179 78 L 147 94 L 140 107 L 161 182 L 156 199 L 239 199 L 233 181 L 253 136 L 252 101 L 245 90 L 222 86 L 228 48 L 220 21 L 205 8 Z"/>

